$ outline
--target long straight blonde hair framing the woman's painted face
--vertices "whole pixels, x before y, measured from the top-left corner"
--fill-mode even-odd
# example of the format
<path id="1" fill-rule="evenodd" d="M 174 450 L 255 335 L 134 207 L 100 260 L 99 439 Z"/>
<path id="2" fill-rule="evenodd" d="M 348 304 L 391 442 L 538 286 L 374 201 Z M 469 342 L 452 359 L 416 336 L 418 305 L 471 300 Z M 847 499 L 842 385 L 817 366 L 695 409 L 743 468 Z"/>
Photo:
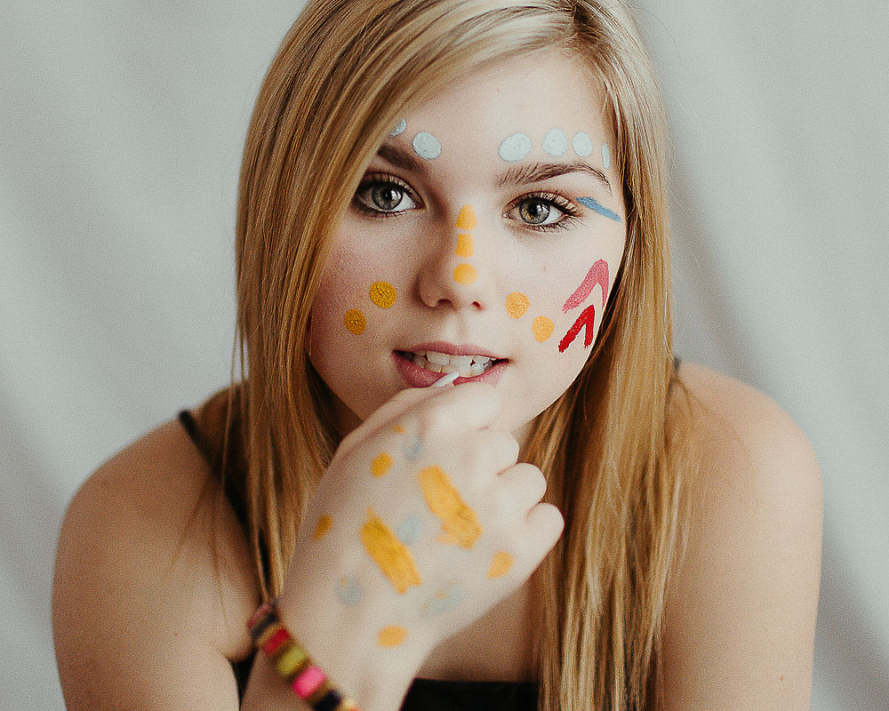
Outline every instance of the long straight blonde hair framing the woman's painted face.
<path id="1" fill-rule="evenodd" d="M 237 208 L 237 398 L 262 593 L 281 589 L 300 518 L 338 435 L 308 363 L 308 315 L 364 167 L 410 108 L 496 60 L 586 60 L 605 90 L 627 243 L 597 347 L 535 421 L 528 459 L 565 534 L 535 576 L 540 708 L 659 707 L 661 622 L 688 518 L 687 432 L 673 374 L 665 128 L 628 7 L 610 0 L 316 0 L 260 89 Z M 247 363 L 249 363 L 249 376 Z M 231 417 L 231 408 L 229 408 Z M 687 427 L 685 427 L 687 429 Z"/>

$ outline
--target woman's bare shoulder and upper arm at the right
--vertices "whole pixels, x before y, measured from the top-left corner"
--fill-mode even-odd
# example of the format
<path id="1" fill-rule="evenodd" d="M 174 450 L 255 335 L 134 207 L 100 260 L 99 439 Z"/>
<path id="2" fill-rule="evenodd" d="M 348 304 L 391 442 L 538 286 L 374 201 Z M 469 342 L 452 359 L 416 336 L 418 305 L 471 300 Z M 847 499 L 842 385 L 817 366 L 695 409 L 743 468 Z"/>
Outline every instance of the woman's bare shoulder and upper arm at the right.
<path id="1" fill-rule="evenodd" d="M 683 363 L 701 472 L 665 608 L 668 709 L 807 709 L 821 575 L 821 472 L 771 398 Z"/>

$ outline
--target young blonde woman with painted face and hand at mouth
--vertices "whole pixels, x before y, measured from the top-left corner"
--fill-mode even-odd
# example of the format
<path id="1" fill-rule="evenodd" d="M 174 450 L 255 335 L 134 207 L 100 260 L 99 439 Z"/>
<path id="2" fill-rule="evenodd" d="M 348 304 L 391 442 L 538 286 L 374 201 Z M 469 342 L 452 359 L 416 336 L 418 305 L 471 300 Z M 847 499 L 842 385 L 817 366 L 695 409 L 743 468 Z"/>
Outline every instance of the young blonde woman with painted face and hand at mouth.
<path id="1" fill-rule="evenodd" d="M 674 359 L 664 133 L 621 3 L 310 2 L 242 378 L 68 508 L 68 708 L 807 708 L 820 475 Z"/>

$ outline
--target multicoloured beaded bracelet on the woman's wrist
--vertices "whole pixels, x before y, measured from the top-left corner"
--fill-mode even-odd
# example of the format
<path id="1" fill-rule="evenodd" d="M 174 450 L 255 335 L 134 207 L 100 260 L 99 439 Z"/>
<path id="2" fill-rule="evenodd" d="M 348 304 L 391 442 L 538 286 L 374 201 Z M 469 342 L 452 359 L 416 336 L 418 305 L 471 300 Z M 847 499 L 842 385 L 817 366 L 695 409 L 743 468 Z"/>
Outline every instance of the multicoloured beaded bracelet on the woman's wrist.
<path id="1" fill-rule="evenodd" d="M 343 696 L 320 667 L 300 647 L 281 623 L 276 603 L 263 603 L 247 622 L 257 649 L 264 651 L 300 699 L 315 711 L 360 711 L 353 699 Z"/>

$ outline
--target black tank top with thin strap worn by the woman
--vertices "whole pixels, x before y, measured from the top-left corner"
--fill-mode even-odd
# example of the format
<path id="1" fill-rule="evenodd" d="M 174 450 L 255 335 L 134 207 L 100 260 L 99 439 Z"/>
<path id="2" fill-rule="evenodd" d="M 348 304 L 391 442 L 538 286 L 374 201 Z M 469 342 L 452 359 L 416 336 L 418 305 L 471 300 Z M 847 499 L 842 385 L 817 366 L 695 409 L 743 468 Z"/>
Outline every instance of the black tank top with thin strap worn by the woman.
<path id="1" fill-rule="evenodd" d="M 219 457 L 214 455 L 212 445 L 197 426 L 196 419 L 190 411 L 183 410 L 179 413 L 179 420 L 197 450 L 210 463 L 212 473 L 219 481 L 222 478 Z M 247 514 L 243 493 L 232 483 L 231 477 L 225 478 L 224 488 L 226 498 L 246 531 Z M 255 653 L 232 663 L 239 699 L 244 698 L 244 689 L 254 658 Z M 404 697 L 401 711 L 533 711 L 536 708 L 535 682 L 453 682 L 417 678 L 413 680 Z"/>

